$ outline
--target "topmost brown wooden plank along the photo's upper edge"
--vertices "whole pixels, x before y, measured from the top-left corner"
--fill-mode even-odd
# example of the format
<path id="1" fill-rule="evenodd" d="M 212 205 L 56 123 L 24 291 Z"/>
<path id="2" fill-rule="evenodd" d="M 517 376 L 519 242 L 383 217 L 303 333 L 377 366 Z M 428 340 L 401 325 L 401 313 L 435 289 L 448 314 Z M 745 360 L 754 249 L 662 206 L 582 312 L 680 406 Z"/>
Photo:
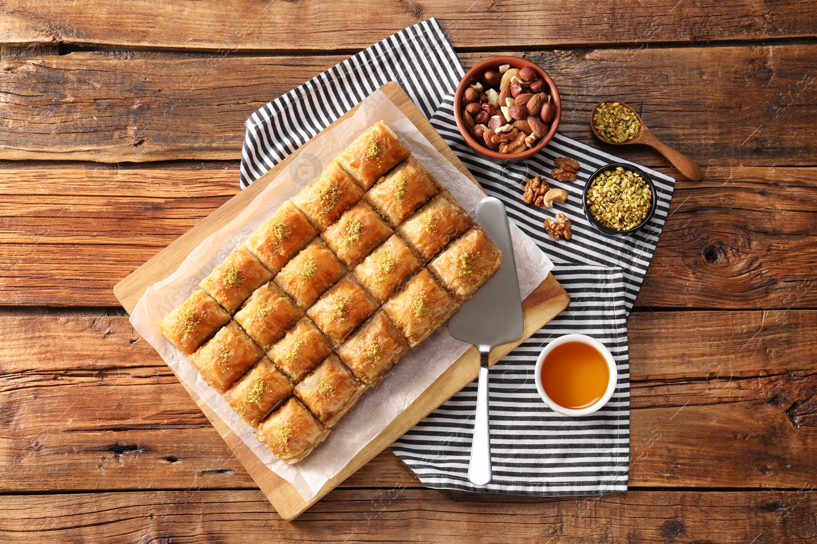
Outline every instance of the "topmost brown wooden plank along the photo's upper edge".
<path id="1" fill-rule="evenodd" d="M 196 2 L 172 0 L 4 2 L 0 41 L 76 43 L 207 51 L 358 49 L 436 17 L 454 46 L 475 48 L 583 43 L 711 42 L 810 37 L 814 2 L 739 0 L 678 6 L 608 0 L 584 9 L 569 2 Z M 626 19 L 627 24 L 620 24 Z M 507 21 L 513 21 L 509 27 Z M 565 24 L 568 22 L 568 24 Z"/>

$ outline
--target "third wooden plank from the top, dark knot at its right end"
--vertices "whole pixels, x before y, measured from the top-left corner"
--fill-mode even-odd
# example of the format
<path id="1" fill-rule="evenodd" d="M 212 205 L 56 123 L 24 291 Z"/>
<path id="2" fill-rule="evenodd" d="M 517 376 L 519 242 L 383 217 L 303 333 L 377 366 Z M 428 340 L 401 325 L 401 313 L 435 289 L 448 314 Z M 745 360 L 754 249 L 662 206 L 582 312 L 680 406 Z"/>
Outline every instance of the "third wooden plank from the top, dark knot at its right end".
<path id="1" fill-rule="evenodd" d="M 678 184 L 637 304 L 815 307 L 817 169 L 707 172 Z M 0 169 L 0 303 L 118 305 L 119 280 L 237 187 L 234 165 Z"/>

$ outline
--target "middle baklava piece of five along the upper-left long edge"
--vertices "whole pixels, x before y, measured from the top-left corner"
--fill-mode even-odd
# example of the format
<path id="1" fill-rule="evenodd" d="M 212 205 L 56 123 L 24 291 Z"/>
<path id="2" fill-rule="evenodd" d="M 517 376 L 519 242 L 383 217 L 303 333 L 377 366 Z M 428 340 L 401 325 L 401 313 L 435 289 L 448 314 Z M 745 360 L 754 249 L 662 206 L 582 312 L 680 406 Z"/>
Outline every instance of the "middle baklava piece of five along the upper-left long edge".
<path id="1" fill-rule="evenodd" d="M 292 202 L 286 201 L 252 233 L 244 245 L 267 269 L 277 274 L 289 259 L 317 235 L 318 231 L 306 219 L 306 215 Z"/>

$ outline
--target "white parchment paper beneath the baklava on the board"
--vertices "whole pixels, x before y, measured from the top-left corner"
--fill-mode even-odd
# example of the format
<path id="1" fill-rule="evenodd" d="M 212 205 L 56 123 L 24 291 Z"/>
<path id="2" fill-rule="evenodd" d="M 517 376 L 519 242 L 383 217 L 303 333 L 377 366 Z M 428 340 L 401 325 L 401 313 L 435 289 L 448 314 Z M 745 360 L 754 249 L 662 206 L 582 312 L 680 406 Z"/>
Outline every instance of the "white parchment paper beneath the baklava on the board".
<path id="1" fill-rule="evenodd" d="M 192 387 L 258 458 L 292 484 L 305 500 L 315 497 L 330 478 L 337 475 L 364 445 L 380 434 L 470 345 L 452 338 L 446 326 L 440 327 L 400 359 L 377 386 L 364 393 L 357 405 L 333 427 L 324 444 L 304 461 L 287 465 L 257 440 L 252 434 L 252 427 L 244 423 L 221 396 L 203 381 L 181 352 L 159 334 L 155 323 L 190 296 L 221 260 L 378 119 L 386 122 L 400 136 L 417 161 L 426 166 L 473 216 L 477 203 L 485 197 L 484 193 L 445 159 L 382 91 L 375 91 L 360 104 L 352 117 L 306 144 L 287 170 L 278 175 L 238 217 L 202 241 L 176 272 L 151 285 L 136 303 L 130 320 L 176 376 Z M 525 299 L 547 277 L 553 265 L 516 225 L 510 223 L 510 228 L 520 294 Z"/>

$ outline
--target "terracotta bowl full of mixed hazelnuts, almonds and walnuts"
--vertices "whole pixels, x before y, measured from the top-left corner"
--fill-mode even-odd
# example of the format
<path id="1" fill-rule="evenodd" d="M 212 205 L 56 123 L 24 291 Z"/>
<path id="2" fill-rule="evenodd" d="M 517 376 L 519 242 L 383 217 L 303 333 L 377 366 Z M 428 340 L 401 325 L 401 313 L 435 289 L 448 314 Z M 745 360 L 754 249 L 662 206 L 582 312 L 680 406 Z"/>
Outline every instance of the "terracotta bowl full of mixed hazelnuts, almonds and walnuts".
<path id="1" fill-rule="evenodd" d="M 454 95 L 454 118 L 477 155 L 513 164 L 551 141 L 561 119 L 561 100 L 553 80 L 537 64 L 498 56 L 462 77 Z"/>

